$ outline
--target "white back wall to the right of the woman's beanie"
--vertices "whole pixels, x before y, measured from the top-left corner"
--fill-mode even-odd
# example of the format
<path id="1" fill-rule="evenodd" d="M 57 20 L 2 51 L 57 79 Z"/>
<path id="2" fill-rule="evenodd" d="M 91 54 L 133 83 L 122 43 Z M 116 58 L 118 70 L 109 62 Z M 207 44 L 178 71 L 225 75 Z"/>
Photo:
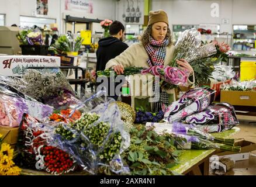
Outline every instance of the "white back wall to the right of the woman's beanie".
<path id="1" fill-rule="evenodd" d="M 219 4 L 219 18 L 212 18 L 210 5 Z M 164 9 L 168 13 L 169 24 L 200 24 L 213 23 L 220 25 L 220 32 L 232 32 L 234 24 L 256 25 L 255 0 L 152 0 L 151 9 Z M 229 23 L 223 23 L 227 19 Z"/>

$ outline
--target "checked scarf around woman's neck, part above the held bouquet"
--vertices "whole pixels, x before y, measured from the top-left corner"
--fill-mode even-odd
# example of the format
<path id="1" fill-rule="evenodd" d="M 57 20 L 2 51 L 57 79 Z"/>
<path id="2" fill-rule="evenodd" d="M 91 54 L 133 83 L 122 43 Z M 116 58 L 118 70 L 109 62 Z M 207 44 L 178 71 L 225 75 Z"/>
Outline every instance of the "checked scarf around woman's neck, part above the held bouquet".
<path id="1" fill-rule="evenodd" d="M 164 65 L 166 47 L 168 44 L 168 38 L 165 38 L 162 41 L 156 41 L 150 36 L 150 42 L 144 46 L 149 57 L 147 63 L 150 67 L 154 65 Z"/>

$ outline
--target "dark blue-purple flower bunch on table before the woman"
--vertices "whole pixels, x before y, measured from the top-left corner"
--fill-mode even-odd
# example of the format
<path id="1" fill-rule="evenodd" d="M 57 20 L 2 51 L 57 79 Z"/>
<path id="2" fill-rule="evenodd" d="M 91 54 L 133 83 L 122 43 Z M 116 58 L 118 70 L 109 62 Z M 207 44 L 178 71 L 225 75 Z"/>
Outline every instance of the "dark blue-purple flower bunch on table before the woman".
<path id="1" fill-rule="evenodd" d="M 146 112 L 144 109 L 138 109 L 136 112 L 135 123 L 146 124 L 147 122 L 160 122 L 164 118 L 164 112 L 160 110 L 159 112 L 152 113 Z"/>

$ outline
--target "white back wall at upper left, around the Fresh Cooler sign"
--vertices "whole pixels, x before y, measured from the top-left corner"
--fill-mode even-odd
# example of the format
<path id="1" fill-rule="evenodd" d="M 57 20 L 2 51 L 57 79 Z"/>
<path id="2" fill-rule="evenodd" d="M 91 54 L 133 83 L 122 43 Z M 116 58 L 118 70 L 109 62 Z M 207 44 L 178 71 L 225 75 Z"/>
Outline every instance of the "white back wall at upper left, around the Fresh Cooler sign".
<path id="1" fill-rule="evenodd" d="M 91 19 L 116 18 L 116 0 L 91 0 L 91 2 L 93 2 L 94 13 L 65 11 L 64 0 L 48 0 L 48 15 L 38 17 L 56 19 L 61 33 L 65 31 L 65 15 Z M 11 26 L 13 23 L 19 25 L 19 16 L 32 16 L 33 11 L 36 11 L 36 0 L 0 0 L 0 13 L 6 14 L 6 26 Z"/>

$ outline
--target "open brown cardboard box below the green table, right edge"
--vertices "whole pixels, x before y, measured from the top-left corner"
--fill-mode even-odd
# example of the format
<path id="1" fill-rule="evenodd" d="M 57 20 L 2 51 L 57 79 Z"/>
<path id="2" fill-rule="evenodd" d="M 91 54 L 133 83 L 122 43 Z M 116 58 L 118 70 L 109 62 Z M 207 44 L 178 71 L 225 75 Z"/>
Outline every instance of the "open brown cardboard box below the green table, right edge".
<path id="1" fill-rule="evenodd" d="M 248 153 L 250 151 L 256 150 L 256 143 L 246 140 L 238 140 L 234 144 L 235 146 L 241 146 L 240 153 Z M 223 155 L 230 155 L 230 154 L 239 154 L 232 151 L 217 151 L 216 155 L 223 156 Z"/>

